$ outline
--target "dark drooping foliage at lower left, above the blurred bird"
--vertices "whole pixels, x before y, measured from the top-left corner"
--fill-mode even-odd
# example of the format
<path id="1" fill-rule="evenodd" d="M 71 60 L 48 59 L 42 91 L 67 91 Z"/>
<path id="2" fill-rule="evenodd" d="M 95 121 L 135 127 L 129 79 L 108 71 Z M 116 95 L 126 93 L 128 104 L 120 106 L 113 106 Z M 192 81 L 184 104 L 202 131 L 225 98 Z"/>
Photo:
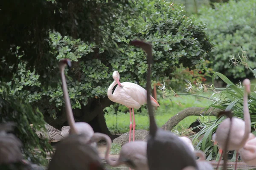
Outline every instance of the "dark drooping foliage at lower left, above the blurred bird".
<path id="1" fill-rule="evenodd" d="M 39 140 L 29 124 L 35 124 L 34 127 L 39 130 L 39 125 L 45 124 L 44 116 L 40 111 L 23 103 L 24 101 L 18 99 L 6 101 L 0 96 L 0 122 L 16 123 L 14 133 L 23 142 L 23 153 L 26 158 L 39 163 L 41 156 L 46 157 L 46 152 L 52 151 L 52 147 L 46 140 Z M 35 147 L 41 151 L 41 154 L 34 150 Z"/>

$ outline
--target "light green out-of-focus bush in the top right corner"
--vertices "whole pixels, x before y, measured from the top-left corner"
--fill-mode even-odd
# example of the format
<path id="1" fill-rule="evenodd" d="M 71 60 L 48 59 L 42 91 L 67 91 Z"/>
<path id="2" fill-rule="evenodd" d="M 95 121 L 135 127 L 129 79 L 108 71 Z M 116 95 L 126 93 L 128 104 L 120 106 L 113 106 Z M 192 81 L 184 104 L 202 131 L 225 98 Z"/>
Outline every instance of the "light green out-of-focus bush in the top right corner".
<path id="1" fill-rule="evenodd" d="M 197 20 L 207 23 L 207 34 L 215 46 L 215 60 L 209 64 L 213 71 L 220 72 L 228 78 L 244 78 L 251 76 L 249 70 L 242 65 L 230 67 L 230 57 L 238 57 L 242 50 L 246 51 L 250 62 L 256 65 L 256 3 L 255 0 L 240 0 L 236 3 L 215 4 L 215 9 L 201 8 Z"/>

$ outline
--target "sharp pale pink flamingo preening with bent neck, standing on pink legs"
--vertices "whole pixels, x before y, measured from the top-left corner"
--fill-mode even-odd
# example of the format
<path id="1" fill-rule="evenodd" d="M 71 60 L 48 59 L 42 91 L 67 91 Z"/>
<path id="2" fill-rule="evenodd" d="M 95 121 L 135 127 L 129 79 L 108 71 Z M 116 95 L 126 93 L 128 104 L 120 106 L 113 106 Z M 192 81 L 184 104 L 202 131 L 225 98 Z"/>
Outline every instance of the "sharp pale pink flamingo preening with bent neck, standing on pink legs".
<path id="1" fill-rule="evenodd" d="M 139 109 L 142 105 L 147 103 L 147 91 L 142 88 L 140 85 L 131 83 L 131 82 L 119 82 L 120 75 L 118 71 L 114 71 L 113 79 L 115 81 L 108 88 L 108 98 L 112 102 L 116 102 L 122 105 L 125 105 L 130 110 L 130 133 L 129 133 L 129 142 L 131 142 L 131 127 L 133 127 L 133 141 L 135 136 L 135 118 L 134 118 L 134 108 Z M 116 86 L 114 93 L 112 94 L 113 88 Z M 152 97 L 151 103 L 153 106 L 157 107 L 160 106 L 158 102 Z M 131 109 L 133 113 L 133 125 L 131 119 Z"/>

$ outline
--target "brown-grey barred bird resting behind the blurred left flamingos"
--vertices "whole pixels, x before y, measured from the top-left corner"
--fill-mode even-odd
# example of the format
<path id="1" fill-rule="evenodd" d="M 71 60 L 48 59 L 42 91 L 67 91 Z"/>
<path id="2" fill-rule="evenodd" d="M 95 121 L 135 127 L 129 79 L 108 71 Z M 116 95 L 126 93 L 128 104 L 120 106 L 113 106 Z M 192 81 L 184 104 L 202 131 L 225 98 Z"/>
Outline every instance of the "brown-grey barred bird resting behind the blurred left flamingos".
<path id="1" fill-rule="evenodd" d="M 30 126 L 33 128 L 33 124 L 30 124 Z M 35 129 L 35 133 L 37 134 L 38 138 L 40 139 L 47 139 L 49 143 L 51 142 L 58 142 L 63 139 L 63 136 L 61 135 L 61 131 L 52 127 L 49 124 L 44 125 L 46 131 L 44 129 L 37 130 Z"/>

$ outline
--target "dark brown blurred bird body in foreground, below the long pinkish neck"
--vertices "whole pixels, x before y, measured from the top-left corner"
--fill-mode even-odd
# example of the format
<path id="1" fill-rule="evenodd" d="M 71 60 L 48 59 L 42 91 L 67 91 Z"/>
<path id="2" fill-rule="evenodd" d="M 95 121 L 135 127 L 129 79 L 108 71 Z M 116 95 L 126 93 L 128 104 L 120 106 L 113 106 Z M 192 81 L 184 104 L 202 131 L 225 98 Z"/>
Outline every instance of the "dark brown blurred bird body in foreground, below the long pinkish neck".
<path id="1" fill-rule="evenodd" d="M 96 148 L 81 133 L 70 134 L 56 145 L 47 170 L 104 170 L 104 166 Z"/>

